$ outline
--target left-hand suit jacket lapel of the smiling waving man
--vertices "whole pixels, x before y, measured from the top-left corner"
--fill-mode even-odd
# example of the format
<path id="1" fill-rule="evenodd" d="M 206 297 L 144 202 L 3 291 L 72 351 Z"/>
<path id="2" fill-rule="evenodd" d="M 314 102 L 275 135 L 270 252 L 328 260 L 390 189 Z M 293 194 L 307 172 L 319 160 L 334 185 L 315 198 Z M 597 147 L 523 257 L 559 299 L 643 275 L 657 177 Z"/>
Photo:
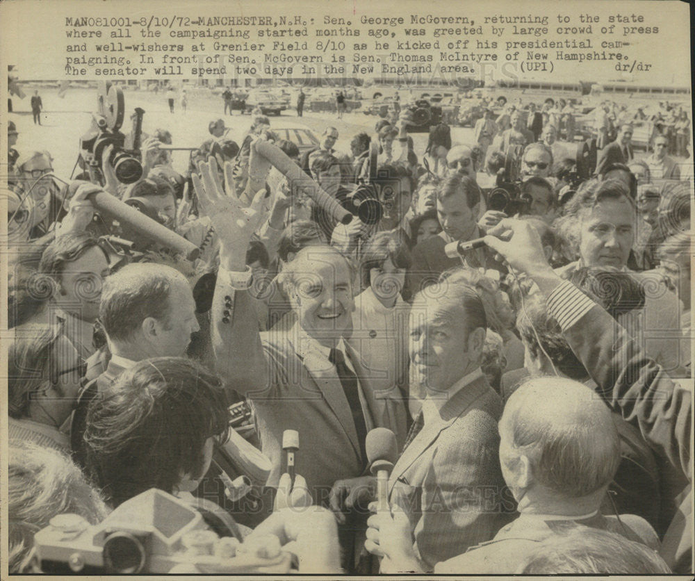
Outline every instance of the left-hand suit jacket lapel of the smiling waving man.
<path id="1" fill-rule="evenodd" d="M 350 439 L 352 447 L 359 458 L 359 443 L 357 441 L 357 430 L 354 428 L 354 420 L 352 420 L 352 412 L 350 404 L 347 403 L 341 380 L 338 379 L 336 368 L 322 354 L 312 350 L 311 347 L 304 352 L 300 345 L 295 345 L 290 340 L 297 357 L 299 357 L 304 365 L 301 373 L 307 374 L 306 379 L 312 379 L 314 384 L 318 386 L 323 395 L 324 400 L 332 409 L 333 413 L 338 418 L 338 422 L 345 430 L 345 434 Z"/>

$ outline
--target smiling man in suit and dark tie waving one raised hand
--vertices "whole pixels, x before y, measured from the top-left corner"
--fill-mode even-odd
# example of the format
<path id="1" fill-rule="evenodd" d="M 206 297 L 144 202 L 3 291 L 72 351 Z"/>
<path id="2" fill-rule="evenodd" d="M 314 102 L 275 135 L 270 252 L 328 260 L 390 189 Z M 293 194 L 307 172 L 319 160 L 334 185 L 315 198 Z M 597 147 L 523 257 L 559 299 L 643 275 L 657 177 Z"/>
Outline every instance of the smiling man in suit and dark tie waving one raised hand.
<path id="1" fill-rule="evenodd" d="M 269 165 L 254 154 L 251 166 L 252 176 L 268 172 Z M 352 328 L 353 276 L 335 249 L 306 247 L 288 263 L 283 284 L 297 324 L 259 334 L 247 292 L 251 274 L 245 271 L 245 254 L 261 222 L 265 190 L 243 208 L 230 186 L 224 193 L 215 183 L 215 170 L 207 164 L 200 169 L 204 183 L 196 175 L 195 188 L 220 237 L 211 311 L 218 372 L 254 406 L 261 450 L 272 464 L 268 486 L 277 486 L 283 471 L 283 432 L 295 429 L 301 446 L 297 473 L 306 478 L 314 500 L 325 504 L 336 480 L 365 470 L 369 429 L 404 432 L 405 402 L 398 389 L 384 393 L 372 388 L 345 341 Z"/>

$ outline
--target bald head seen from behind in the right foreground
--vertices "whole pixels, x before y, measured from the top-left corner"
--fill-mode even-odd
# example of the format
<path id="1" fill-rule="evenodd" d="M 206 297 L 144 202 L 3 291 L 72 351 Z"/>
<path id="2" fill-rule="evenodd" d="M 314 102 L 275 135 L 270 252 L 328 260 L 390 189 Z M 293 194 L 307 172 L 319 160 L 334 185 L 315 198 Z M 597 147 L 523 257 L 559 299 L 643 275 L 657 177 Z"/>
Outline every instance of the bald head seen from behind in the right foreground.
<path id="1" fill-rule="evenodd" d="M 610 410 L 572 379 L 523 384 L 507 401 L 500 436 L 512 455 L 528 458 L 534 482 L 566 498 L 602 491 L 620 461 Z"/>

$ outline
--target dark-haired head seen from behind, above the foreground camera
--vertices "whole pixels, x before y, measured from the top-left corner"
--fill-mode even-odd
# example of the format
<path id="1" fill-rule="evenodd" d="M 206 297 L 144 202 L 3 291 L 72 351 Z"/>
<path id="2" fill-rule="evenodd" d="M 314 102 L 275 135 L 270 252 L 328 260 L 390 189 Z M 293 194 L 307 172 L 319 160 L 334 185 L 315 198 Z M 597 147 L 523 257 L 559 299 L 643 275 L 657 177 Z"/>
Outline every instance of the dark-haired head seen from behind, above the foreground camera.
<path id="1" fill-rule="evenodd" d="M 111 505 L 151 488 L 191 490 L 225 441 L 229 409 L 220 378 L 179 357 L 140 361 L 90 404 L 87 468 Z"/>

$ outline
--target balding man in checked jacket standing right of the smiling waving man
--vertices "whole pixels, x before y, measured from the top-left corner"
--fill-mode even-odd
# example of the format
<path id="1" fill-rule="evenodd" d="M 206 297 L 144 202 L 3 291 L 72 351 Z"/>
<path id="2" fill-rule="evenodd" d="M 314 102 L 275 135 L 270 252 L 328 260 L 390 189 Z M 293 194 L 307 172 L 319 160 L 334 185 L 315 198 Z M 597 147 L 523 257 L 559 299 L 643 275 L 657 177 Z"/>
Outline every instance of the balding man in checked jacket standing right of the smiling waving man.
<path id="1" fill-rule="evenodd" d="M 485 329 L 480 297 L 455 273 L 414 300 L 410 359 L 427 395 L 391 471 L 389 503 L 408 516 L 421 571 L 488 541 L 503 524 L 502 402 L 480 369 Z"/>

